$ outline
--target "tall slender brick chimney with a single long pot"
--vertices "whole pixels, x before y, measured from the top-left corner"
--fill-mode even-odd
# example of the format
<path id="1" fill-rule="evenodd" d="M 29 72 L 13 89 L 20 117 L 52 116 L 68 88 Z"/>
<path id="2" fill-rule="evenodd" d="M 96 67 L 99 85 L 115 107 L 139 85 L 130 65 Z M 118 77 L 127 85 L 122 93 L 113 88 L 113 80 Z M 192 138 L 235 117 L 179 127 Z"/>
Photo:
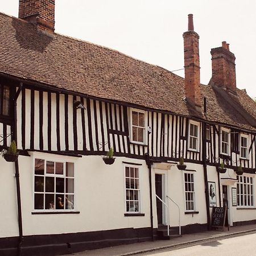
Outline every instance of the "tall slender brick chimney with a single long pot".
<path id="1" fill-rule="evenodd" d="M 201 111 L 199 35 L 194 31 L 193 14 L 188 14 L 188 31 L 184 32 L 185 96 Z"/>

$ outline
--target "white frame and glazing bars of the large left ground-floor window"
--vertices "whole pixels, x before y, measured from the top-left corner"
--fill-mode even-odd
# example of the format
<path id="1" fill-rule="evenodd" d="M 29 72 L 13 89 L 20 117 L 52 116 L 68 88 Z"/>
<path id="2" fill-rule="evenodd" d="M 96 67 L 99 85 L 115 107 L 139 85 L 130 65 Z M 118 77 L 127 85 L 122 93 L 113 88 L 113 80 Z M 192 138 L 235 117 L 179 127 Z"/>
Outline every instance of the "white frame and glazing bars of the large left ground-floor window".
<path id="1" fill-rule="evenodd" d="M 47 153 L 42 152 L 29 152 L 30 155 L 32 155 L 32 188 L 33 188 L 33 194 L 32 194 L 32 201 L 33 201 L 33 208 L 32 212 L 75 212 L 77 209 L 77 201 L 76 201 L 76 158 L 73 158 L 72 156 L 60 156 L 60 155 L 49 155 Z M 35 175 L 35 159 L 42 159 L 44 160 L 44 168 L 46 168 L 46 162 L 57 162 L 57 163 L 63 163 L 64 164 L 64 173 L 63 174 L 46 174 L 46 169 L 44 170 L 44 175 Z M 74 192 L 73 193 L 66 193 L 65 187 L 64 187 L 64 195 L 73 195 L 74 198 L 74 208 L 73 209 L 56 209 L 56 202 L 55 202 L 55 209 L 35 209 L 35 193 L 38 193 L 35 191 L 35 176 L 42 176 L 42 177 L 67 177 L 65 176 L 65 163 L 73 163 L 74 164 Z M 70 177 L 72 178 L 72 177 Z M 64 184 L 65 186 L 65 184 Z M 56 189 L 56 185 L 55 185 Z M 54 189 L 54 190 L 55 190 Z M 45 195 L 47 195 L 46 191 L 42 192 L 44 195 L 44 204 L 45 204 Z M 57 192 L 55 191 L 53 195 L 56 195 Z M 60 193 L 62 194 L 62 193 Z M 45 205 L 44 205 L 45 207 Z"/>

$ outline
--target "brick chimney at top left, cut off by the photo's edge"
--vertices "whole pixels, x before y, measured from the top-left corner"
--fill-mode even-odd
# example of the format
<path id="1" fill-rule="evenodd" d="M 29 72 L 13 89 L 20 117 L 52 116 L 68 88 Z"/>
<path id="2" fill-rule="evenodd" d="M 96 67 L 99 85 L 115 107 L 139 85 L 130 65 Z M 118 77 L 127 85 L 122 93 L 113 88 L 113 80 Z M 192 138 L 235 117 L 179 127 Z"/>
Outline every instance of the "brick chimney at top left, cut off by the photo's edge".
<path id="1" fill-rule="evenodd" d="M 19 0 L 19 18 L 54 33 L 55 0 Z"/>

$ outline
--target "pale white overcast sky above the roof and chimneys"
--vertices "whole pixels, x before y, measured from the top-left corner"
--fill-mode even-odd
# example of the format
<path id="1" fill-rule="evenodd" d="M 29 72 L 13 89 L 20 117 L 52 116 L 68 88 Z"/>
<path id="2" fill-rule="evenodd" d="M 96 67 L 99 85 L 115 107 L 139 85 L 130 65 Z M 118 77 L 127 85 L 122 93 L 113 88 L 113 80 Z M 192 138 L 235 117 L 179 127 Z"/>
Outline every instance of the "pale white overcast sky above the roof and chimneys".
<path id="1" fill-rule="evenodd" d="M 19 0 L 0 0 L 18 16 Z M 166 68 L 184 68 L 183 32 L 192 13 L 200 35 L 201 83 L 212 74 L 210 49 L 230 44 L 237 87 L 256 97 L 255 0 L 55 0 L 55 32 L 116 49 Z M 184 70 L 174 72 L 184 77 Z"/>

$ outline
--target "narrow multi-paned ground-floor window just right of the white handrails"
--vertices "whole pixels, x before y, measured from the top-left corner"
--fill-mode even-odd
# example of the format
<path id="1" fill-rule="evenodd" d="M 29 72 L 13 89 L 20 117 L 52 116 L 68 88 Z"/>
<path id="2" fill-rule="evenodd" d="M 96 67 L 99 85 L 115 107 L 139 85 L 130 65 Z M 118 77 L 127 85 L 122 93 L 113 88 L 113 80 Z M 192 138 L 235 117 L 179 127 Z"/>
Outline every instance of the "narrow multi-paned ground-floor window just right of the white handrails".
<path id="1" fill-rule="evenodd" d="M 184 173 L 185 181 L 185 210 L 187 212 L 195 210 L 195 185 L 194 174 Z"/>

